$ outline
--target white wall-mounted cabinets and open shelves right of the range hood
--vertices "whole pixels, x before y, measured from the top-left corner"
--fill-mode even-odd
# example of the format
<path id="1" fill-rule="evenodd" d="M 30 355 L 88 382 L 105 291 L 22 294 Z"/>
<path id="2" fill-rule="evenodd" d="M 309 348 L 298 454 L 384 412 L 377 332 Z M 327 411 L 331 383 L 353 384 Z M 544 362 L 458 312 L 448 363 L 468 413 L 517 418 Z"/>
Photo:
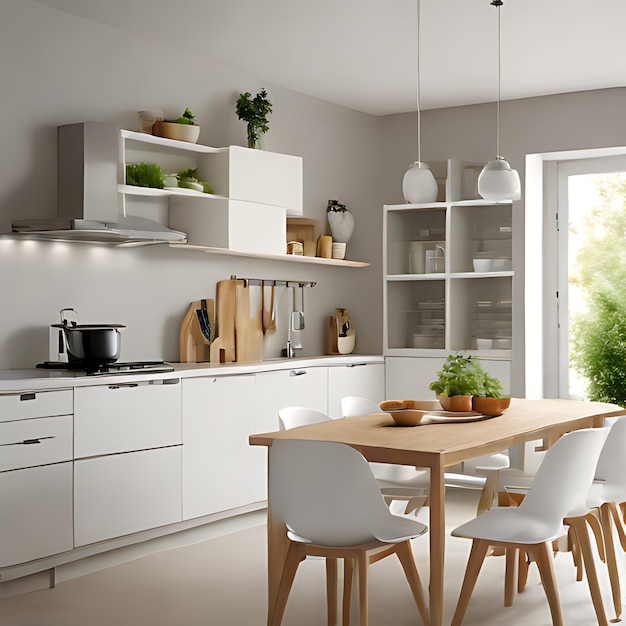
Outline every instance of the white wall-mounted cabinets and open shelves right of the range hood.
<path id="1" fill-rule="evenodd" d="M 126 165 L 157 163 L 164 174 L 195 168 L 214 194 L 127 185 Z M 301 216 L 302 158 L 241 146 L 212 148 L 122 130 L 120 212 L 187 233 L 177 248 L 297 263 L 366 267 L 369 263 L 286 254 L 286 218 Z"/>

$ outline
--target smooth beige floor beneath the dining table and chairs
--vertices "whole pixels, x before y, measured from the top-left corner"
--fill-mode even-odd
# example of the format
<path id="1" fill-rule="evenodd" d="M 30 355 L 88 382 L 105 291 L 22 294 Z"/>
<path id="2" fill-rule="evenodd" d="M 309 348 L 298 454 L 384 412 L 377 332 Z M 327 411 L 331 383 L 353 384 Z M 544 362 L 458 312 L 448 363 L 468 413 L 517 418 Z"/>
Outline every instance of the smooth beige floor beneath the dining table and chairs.
<path id="1" fill-rule="evenodd" d="M 472 517 L 476 492 L 448 494 L 450 527 Z M 426 513 L 422 510 L 420 518 Z M 414 541 L 418 569 L 428 578 L 427 538 Z M 446 555 L 445 623 L 450 622 L 469 541 L 450 537 Z M 258 526 L 192 546 L 163 551 L 36 591 L 0 600 L 2 626 L 263 626 L 266 610 L 265 528 Z M 620 555 L 620 568 L 625 559 Z M 565 626 L 596 624 L 586 582 L 575 581 L 569 554 L 555 561 Z M 536 570 L 513 607 L 502 604 L 504 563 L 490 557 L 483 567 L 464 624 L 542 626 L 551 624 Z M 609 619 L 605 569 L 601 584 Z M 370 568 L 370 625 L 420 624 L 399 563 L 385 559 Z M 301 564 L 284 626 L 325 624 L 324 566 Z"/>

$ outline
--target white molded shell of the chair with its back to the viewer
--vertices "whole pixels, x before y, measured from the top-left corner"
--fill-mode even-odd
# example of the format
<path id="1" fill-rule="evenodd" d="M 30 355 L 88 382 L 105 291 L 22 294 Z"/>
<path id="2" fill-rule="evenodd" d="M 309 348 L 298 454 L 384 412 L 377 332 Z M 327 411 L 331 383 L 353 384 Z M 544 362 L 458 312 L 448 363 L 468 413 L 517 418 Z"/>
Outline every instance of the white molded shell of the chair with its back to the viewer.
<path id="1" fill-rule="evenodd" d="M 401 541 L 425 530 L 389 512 L 368 462 L 343 443 L 274 440 L 269 494 L 272 514 L 297 537 L 320 545 Z"/>

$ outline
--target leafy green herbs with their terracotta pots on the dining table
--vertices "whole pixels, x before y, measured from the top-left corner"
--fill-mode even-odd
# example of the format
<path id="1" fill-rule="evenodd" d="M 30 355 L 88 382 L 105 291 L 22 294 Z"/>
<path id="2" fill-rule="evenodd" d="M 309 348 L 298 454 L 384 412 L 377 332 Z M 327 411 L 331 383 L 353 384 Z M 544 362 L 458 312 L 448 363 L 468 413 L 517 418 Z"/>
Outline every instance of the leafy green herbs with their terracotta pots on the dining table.
<path id="1" fill-rule="evenodd" d="M 477 411 L 500 415 L 510 398 L 502 398 L 502 384 L 483 370 L 475 356 L 450 354 L 428 387 L 446 411 Z M 506 406 L 505 406 L 506 405 Z"/>

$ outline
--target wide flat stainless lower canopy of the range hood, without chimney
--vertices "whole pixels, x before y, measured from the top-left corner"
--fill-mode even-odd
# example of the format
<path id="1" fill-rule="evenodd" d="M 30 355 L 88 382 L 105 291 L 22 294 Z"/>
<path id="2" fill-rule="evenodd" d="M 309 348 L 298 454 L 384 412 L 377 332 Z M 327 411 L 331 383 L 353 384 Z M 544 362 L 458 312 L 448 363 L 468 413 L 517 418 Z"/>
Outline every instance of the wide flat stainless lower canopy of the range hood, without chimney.
<path id="1" fill-rule="evenodd" d="M 119 246 L 187 241 L 187 235 L 183 232 L 167 228 L 154 220 L 133 215 L 120 216 L 116 222 L 63 218 L 22 220 L 13 222 L 12 231 L 31 239 L 82 241 Z"/>

